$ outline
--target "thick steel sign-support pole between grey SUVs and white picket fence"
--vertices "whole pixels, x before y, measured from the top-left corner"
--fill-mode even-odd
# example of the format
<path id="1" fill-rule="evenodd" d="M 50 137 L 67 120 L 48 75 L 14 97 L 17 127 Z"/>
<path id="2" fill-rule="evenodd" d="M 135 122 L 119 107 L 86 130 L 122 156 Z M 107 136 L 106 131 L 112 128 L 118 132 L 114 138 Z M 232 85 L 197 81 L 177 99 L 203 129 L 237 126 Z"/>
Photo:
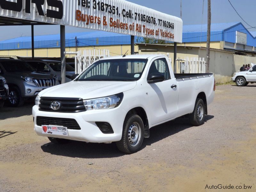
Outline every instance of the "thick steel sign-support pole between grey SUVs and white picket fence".
<path id="1" fill-rule="evenodd" d="M 60 25 L 61 84 L 66 83 L 65 25 Z"/>

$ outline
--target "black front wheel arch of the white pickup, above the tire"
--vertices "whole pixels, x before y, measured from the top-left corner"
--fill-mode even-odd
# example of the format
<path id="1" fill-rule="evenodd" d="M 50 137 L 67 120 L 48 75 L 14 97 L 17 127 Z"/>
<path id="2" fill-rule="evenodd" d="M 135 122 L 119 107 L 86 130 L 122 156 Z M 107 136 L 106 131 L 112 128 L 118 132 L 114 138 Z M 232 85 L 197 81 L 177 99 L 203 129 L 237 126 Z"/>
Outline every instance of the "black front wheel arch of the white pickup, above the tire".
<path id="1" fill-rule="evenodd" d="M 140 116 L 140 118 L 142 119 L 143 124 L 144 124 L 144 137 L 149 137 L 148 116 L 147 116 L 147 113 L 144 110 L 144 108 L 142 108 L 142 107 L 135 107 L 135 108 L 130 109 L 127 112 L 125 118 L 127 116 L 129 116 L 129 115 L 132 115 L 132 114 L 136 114 L 136 115 Z"/>

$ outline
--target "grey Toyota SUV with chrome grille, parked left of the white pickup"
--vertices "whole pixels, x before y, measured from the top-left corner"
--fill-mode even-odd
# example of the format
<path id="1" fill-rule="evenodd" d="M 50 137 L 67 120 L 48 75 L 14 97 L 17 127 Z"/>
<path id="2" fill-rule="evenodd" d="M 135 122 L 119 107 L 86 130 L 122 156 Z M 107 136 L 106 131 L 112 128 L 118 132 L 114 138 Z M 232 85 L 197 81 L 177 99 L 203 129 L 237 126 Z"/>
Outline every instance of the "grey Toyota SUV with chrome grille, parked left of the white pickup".
<path id="1" fill-rule="evenodd" d="M 20 107 L 26 98 L 59 84 L 58 76 L 36 72 L 36 69 L 22 60 L 0 59 L 0 75 L 9 86 L 8 100 L 12 107 Z"/>

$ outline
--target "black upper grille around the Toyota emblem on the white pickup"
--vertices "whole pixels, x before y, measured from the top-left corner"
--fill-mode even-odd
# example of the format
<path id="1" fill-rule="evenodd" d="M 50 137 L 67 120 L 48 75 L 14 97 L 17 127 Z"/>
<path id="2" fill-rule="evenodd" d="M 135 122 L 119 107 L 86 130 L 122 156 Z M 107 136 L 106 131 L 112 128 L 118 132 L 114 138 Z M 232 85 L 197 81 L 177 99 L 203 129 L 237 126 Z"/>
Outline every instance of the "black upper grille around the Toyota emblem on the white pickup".
<path id="1" fill-rule="evenodd" d="M 60 103 L 59 110 L 51 108 L 52 102 Z M 81 98 L 61 98 L 61 97 L 41 97 L 39 104 L 40 111 L 62 112 L 62 113 L 78 113 L 86 111 L 83 99 Z"/>

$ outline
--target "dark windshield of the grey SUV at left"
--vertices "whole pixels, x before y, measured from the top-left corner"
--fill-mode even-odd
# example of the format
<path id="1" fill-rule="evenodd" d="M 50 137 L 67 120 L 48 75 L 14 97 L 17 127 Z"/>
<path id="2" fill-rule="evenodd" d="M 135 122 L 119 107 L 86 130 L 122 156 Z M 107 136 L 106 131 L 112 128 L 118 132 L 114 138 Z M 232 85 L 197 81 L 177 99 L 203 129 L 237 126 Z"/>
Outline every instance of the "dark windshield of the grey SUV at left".
<path id="1" fill-rule="evenodd" d="M 4 69 L 7 72 L 34 72 L 35 68 L 31 67 L 28 63 L 24 61 L 1 61 Z"/>

